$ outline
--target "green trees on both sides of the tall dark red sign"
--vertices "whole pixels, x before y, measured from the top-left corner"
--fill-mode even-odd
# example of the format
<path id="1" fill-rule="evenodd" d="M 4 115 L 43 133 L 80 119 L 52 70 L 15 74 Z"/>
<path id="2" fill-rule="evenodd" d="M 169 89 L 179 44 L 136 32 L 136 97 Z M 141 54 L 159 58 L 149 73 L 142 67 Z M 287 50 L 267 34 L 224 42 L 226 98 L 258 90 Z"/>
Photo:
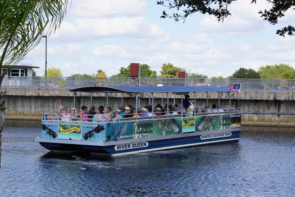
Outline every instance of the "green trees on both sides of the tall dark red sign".
<path id="1" fill-rule="evenodd" d="M 129 77 L 130 76 L 130 65 L 127 66 L 127 68 L 121 67 L 119 69 L 119 73 L 112 75 L 111 77 Z M 157 72 L 152 71 L 150 69 L 150 66 L 148 64 L 140 64 L 140 77 L 143 78 L 155 78 Z"/>

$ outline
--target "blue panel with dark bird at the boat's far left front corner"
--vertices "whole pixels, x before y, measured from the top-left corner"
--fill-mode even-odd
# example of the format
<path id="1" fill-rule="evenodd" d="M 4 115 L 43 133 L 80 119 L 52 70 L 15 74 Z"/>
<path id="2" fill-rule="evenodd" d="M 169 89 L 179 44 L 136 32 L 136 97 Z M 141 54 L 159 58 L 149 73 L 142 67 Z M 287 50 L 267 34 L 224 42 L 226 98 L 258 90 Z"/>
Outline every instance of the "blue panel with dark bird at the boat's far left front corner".
<path id="1" fill-rule="evenodd" d="M 47 139 L 58 139 L 58 121 L 42 120 L 41 137 Z"/>

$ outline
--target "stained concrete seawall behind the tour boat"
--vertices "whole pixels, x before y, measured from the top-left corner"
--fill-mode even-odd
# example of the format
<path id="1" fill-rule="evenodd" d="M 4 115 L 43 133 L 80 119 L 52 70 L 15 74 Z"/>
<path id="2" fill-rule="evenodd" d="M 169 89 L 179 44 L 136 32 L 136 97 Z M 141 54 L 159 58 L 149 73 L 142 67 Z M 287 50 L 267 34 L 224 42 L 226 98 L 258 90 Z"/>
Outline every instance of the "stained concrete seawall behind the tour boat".
<path id="1" fill-rule="evenodd" d="M 70 111 L 73 108 L 73 92 L 66 89 L 24 89 L 1 88 L 6 91 L 5 106 L 8 119 L 15 120 L 41 120 L 42 112 L 58 112 L 62 104 Z M 162 93 L 155 93 L 154 104 L 162 103 Z M 190 93 L 194 98 L 194 93 Z M 108 105 L 117 108 L 121 106 L 121 93 L 109 93 Z M 135 106 L 134 94 L 123 94 L 123 105 Z M 140 94 L 140 106 L 149 102 L 149 94 Z M 174 95 L 168 95 L 169 103 L 173 104 Z M 196 105 L 206 105 L 207 94 L 196 93 Z M 217 93 L 208 93 L 209 105 L 218 103 Z M 238 93 L 231 92 L 231 107 L 235 107 Z M 239 106 L 242 112 L 242 125 L 251 126 L 295 126 L 295 92 L 240 92 Z M 163 103 L 167 102 L 167 94 L 163 94 Z M 176 95 L 176 103 L 180 103 L 180 95 Z M 106 106 L 106 93 L 94 93 L 92 104 Z M 76 95 L 76 108 L 82 105 L 90 106 L 90 94 L 78 92 Z M 229 93 L 220 92 L 220 105 L 229 107 Z M 256 114 L 251 114 L 256 113 Z M 289 113 L 289 114 L 282 114 Z M 7 119 L 7 118 L 6 118 Z"/>

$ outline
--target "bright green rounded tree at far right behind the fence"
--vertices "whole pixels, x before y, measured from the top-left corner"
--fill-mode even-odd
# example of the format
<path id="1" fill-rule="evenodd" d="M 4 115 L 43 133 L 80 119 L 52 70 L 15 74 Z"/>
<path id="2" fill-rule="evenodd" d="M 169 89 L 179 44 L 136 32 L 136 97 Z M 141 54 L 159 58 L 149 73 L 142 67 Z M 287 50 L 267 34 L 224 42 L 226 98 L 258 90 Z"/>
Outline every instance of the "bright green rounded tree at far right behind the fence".
<path id="1" fill-rule="evenodd" d="M 286 64 L 260 66 L 261 79 L 295 79 L 295 70 Z"/>

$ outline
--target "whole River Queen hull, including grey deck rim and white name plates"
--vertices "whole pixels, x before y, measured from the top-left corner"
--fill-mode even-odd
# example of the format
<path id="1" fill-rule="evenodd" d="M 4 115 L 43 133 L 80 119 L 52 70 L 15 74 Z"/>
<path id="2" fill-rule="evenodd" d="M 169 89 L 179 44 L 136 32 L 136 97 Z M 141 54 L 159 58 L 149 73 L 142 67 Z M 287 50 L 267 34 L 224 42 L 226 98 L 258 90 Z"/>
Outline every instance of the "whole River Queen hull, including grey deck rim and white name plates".
<path id="1" fill-rule="evenodd" d="M 171 136 L 160 136 L 154 138 L 141 138 L 130 140 L 118 140 L 110 142 L 91 142 L 77 140 L 50 140 L 36 138 L 35 141 L 50 151 L 84 151 L 98 155 L 123 155 L 140 152 L 149 152 L 165 149 L 175 149 L 191 146 L 204 146 L 209 144 L 220 144 L 238 142 L 242 128 L 231 129 L 224 133 L 220 131 L 207 131 L 199 133 L 182 133 Z M 225 135 L 227 134 L 227 135 Z M 220 136 L 220 137 L 219 137 Z"/>

